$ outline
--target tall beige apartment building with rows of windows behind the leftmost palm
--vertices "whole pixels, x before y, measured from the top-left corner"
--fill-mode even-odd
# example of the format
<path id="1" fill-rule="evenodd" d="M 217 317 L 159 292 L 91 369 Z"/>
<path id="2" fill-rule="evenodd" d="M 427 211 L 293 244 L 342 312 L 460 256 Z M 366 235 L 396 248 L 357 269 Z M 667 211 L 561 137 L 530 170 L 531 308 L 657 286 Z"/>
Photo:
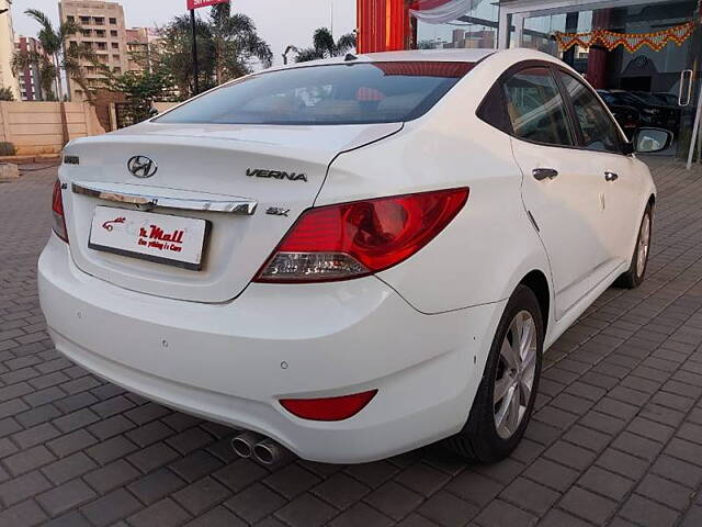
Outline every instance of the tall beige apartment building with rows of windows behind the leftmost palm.
<path id="1" fill-rule="evenodd" d="M 61 21 L 73 21 L 81 26 L 81 31 L 70 38 L 70 46 L 90 47 L 100 63 L 109 66 L 115 74 L 129 69 L 127 30 L 121 4 L 102 0 L 61 0 L 58 12 Z M 100 70 L 89 61 L 81 66 L 84 68 L 88 86 L 99 87 L 102 78 Z M 82 88 L 70 79 L 68 89 L 72 101 L 86 100 Z"/>

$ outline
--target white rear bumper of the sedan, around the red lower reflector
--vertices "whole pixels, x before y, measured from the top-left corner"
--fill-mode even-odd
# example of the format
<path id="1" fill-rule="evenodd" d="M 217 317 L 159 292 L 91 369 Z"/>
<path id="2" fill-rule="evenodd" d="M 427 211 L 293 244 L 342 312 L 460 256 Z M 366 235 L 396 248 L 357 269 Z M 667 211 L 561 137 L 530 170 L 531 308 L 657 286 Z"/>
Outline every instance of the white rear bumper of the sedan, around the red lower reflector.
<path id="1" fill-rule="evenodd" d="M 327 462 L 381 459 L 460 430 L 505 307 L 424 315 L 374 277 L 251 284 L 223 304 L 162 299 L 80 271 L 54 235 L 38 285 L 49 334 L 69 359 Z M 278 402 L 372 389 L 375 399 L 342 422 L 301 419 Z"/>

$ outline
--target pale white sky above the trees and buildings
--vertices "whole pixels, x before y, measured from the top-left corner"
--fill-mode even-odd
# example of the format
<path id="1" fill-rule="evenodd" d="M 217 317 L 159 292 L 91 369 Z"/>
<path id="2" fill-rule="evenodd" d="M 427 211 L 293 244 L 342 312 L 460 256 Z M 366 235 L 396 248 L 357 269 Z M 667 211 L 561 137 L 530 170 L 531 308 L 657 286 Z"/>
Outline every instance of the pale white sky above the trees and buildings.
<path id="1" fill-rule="evenodd" d="M 127 27 L 163 25 L 171 18 L 185 13 L 185 0 L 117 0 L 124 8 Z M 333 10 L 332 10 L 333 5 Z M 331 25 L 333 11 L 335 36 L 355 29 L 355 0 L 231 0 L 233 10 L 253 19 L 259 34 L 282 63 L 282 53 L 293 44 L 312 45 L 317 27 Z M 13 0 L 12 21 L 18 35 L 35 36 L 37 24 L 24 14 L 26 9 L 38 9 L 58 22 L 57 0 Z M 200 9 L 205 15 L 208 8 Z"/>

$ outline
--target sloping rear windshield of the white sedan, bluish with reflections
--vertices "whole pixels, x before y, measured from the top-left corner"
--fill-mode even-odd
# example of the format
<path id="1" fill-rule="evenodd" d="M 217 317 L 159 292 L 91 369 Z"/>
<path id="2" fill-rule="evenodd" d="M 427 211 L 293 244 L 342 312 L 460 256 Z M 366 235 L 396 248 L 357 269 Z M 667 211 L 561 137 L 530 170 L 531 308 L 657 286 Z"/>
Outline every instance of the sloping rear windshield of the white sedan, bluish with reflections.
<path id="1" fill-rule="evenodd" d="M 351 63 L 253 75 L 157 117 L 159 123 L 371 124 L 426 113 L 475 63 Z"/>

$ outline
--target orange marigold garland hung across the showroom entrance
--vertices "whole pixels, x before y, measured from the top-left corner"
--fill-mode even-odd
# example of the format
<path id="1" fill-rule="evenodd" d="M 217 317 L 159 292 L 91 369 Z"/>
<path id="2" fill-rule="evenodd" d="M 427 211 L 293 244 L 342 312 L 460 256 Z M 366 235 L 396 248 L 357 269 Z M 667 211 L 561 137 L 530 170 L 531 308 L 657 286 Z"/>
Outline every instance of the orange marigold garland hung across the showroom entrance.
<path id="1" fill-rule="evenodd" d="M 595 30 L 590 33 L 561 33 L 557 31 L 555 37 L 564 52 L 575 45 L 590 47 L 598 43 L 604 46 L 608 52 L 616 46 L 624 46 L 629 53 L 635 53 L 643 46 L 659 52 L 671 41 L 678 46 L 682 45 L 684 41 L 690 38 L 693 30 L 694 23 L 687 22 L 655 33 L 614 33 L 607 30 Z"/>

